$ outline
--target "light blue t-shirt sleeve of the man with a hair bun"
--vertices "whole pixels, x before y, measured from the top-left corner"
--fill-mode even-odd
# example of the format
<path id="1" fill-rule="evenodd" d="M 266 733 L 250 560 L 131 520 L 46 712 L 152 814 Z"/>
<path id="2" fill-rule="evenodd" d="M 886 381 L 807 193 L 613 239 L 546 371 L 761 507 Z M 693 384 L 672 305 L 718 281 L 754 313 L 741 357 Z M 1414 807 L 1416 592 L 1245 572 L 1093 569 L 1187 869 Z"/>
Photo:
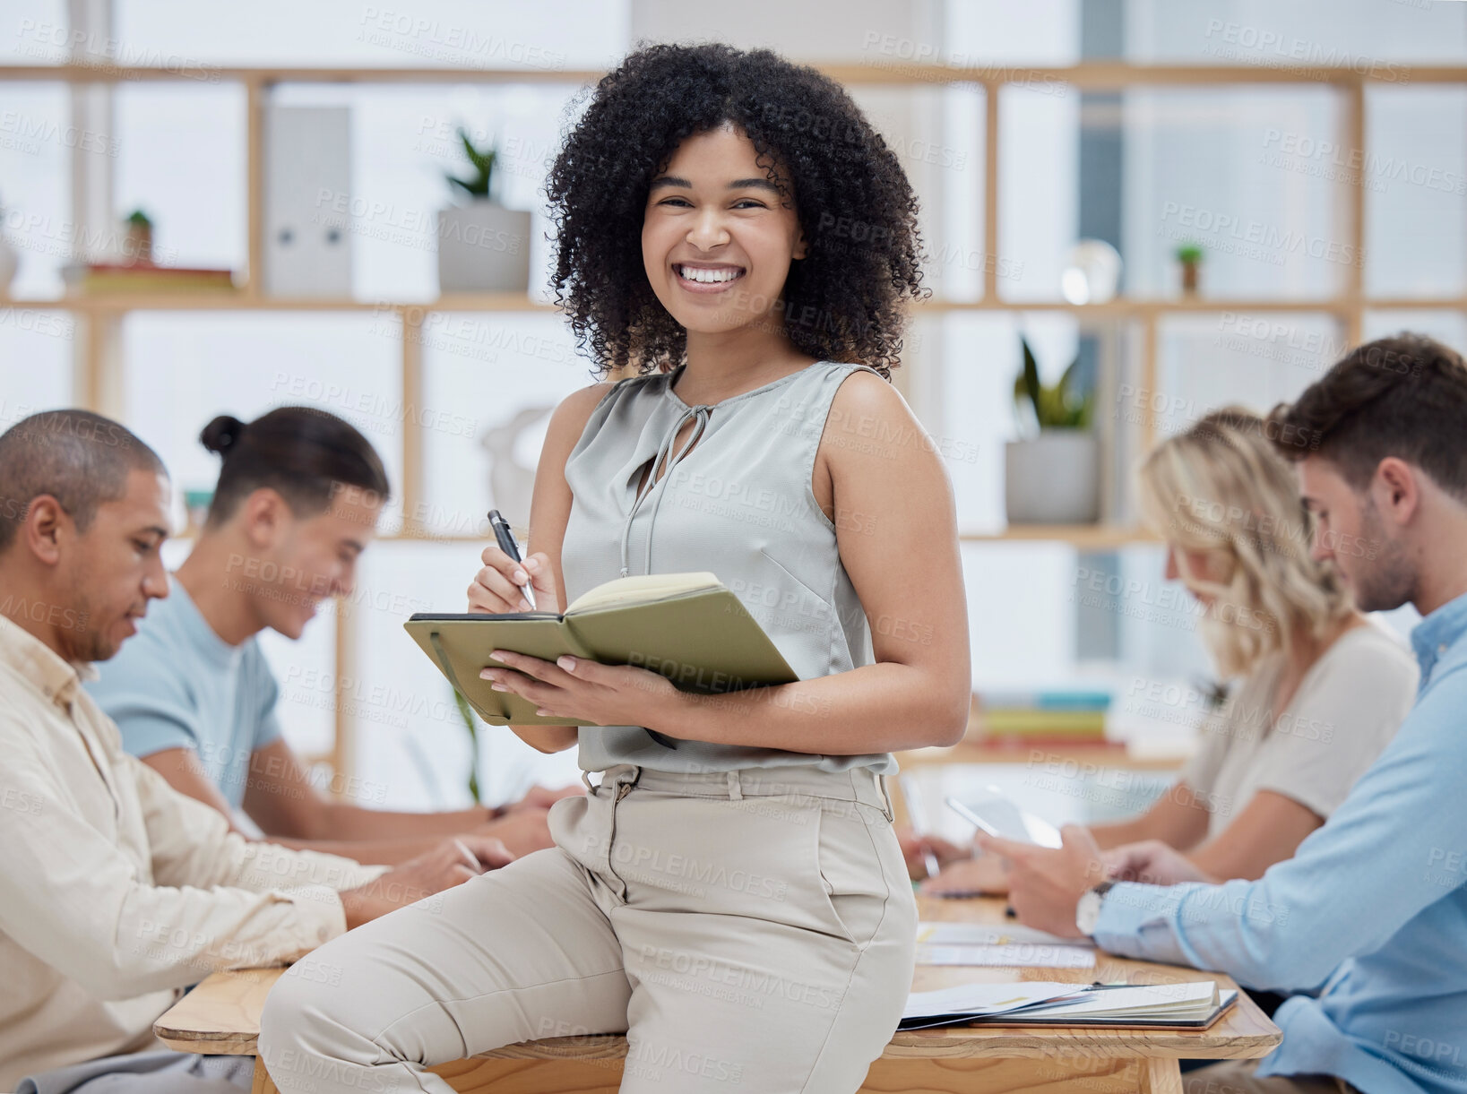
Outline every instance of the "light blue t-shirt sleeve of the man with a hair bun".
<path id="1" fill-rule="evenodd" d="M 117 723 L 122 746 L 142 758 L 167 748 L 200 751 L 200 713 L 183 675 L 147 631 L 122 644 L 98 678 L 85 683 L 103 713 Z"/>

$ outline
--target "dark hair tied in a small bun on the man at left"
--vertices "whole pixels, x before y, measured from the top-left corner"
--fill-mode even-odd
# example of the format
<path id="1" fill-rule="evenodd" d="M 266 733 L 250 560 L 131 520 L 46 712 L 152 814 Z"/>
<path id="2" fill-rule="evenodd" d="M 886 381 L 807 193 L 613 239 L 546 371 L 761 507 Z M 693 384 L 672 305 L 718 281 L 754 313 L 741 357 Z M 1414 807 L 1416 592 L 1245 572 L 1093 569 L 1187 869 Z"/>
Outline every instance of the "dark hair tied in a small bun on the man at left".
<path id="1" fill-rule="evenodd" d="M 314 406 L 277 406 L 252 422 L 222 414 L 200 434 L 224 458 L 208 506 L 208 526 L 227 521 L 261 487 L 279 493 L 296 516 L 315 516 L 342 485 L 387 500 L 381 458 L 351 422 Z"/>

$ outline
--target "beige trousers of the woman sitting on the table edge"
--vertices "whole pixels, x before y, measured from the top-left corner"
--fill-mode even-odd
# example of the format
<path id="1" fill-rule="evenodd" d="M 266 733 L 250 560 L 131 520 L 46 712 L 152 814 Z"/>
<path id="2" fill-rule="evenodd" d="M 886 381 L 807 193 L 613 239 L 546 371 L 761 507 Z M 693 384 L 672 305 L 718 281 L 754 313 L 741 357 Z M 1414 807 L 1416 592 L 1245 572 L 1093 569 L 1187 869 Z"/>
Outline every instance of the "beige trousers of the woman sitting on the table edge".
<path id="1" fill-rule="evenodd" d="M 915 949 L 885 780 L 623 764 L 556 802 L 550 831 L 302 958 L 261 1019 L 276 1085 L 447 1094 L 427 1066 L 600 1032 L 626 1034 L 622 1091 L 861 1085 Z"/>

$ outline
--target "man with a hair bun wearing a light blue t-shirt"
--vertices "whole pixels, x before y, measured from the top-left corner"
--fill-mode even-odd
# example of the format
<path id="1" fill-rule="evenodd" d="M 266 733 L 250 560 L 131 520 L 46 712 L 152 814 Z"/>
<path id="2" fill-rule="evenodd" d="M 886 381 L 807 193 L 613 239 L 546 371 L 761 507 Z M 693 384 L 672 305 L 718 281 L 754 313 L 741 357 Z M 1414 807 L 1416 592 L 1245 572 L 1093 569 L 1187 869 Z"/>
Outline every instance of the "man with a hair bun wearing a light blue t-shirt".
<path id="1" fill-rule="evenodd" d="M 496 836 L 515 855 L 550 846 L 547 808 L 565 790 L 534 788 L 499 808 L 399 812 L 317 789 L 280 735 L 280 688 L 257 635 L 298 639 L 321 601 L 351 595 L 387 477 L 361 433 L 308 406 L 249 424 L 220 415 L 201 440 L 224 458 L 208 519 L 169 576 L 167 598 L 88 685 L 125 748 L 242 834 L 271 843 L 384 864 L 462 833 Z"/>

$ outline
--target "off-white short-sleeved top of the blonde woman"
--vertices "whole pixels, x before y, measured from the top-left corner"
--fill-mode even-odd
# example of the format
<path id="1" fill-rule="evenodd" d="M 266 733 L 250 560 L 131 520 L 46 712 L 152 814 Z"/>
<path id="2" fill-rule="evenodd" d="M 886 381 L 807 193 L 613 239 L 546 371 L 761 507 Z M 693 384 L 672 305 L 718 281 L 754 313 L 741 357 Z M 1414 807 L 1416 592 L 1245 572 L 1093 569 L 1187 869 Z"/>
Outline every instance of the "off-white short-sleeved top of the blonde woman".
<path id="1" fill-rule="evenodd" d="M 1203 722 L 1201 748 L 1182 768 L 1182 782 L 1210 814 L 1209 839 L 1259 790 L 1282 793 L 1329 820 L 1416 700 L 1416 660 L 1373 620 L 1341 635 L 1275 717 L 1284 661 L 1273 653 L 1234 686 Z"/>

